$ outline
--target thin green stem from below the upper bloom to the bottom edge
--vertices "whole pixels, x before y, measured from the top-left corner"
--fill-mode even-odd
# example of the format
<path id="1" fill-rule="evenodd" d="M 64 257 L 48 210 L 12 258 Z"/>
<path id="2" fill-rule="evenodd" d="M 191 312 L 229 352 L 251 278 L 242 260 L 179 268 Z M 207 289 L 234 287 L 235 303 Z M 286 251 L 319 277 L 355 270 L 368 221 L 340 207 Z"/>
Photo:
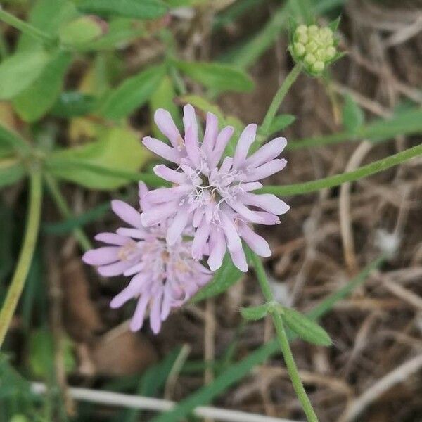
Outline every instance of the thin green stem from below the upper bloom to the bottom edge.
<path id="1" fill-rule="evenodd" d="M 267 275 L 265 274 L 261 259 L 254 252 L 251 252 L 251 257 L 264 298 L 267 300 L 267 302 L 272 302 L 274 301 L 274 295 L 271 292 L 271 288 L 269 286 Z M 295 389 L 296 395 L 298 395 L 300 404 L 302 404 L 302 409 L 305 411 L 305 415 L 309 422 L 318 422 L 318 418 L 316 417 L 315 411 L 312 408 L 312 404 L 307 397 L 302 381 L 300 380 L 298 367 L 296 366 L 295 359 L 293 358 L 292 351 L 290 350 L 290 345 L 288 344 L 288 337 L 284 328 L 283 320 L 281 319 L 281 316 L 278 312 L 271 312 L 271 316 L 274 326 L 276 327 L 277 340 L 279 340 L 279 345 L 281 352 L 283 353 L 288 375 L 290 376 L 290 380 L 293 383 L 293 388 Z"/>

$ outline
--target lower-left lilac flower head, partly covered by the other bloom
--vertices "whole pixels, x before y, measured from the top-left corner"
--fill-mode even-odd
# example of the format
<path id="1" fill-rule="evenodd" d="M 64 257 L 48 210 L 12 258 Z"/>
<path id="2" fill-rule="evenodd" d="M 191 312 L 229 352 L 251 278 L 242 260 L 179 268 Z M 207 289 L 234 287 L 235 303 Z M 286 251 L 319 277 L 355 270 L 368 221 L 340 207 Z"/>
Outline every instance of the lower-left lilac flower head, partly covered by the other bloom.
<path id="1" fill-rule="evenodd" d="M 144 198 L 148 193 L 143 183 L 139 184 L 141 210 L 147 211 Z M 184 229 L 169 245 L 165 241 L 167 219 L 150 228 L 141 224 L 141 214 L 121 200 L 112 201 L 113 211 L 130 227 L 117 229 L 116 233 L 101 233 L 96 240 L 107 246 L 89 250 L 82 259 L 98 267 L 102 276 L 132 276 L 128 286 L 110 302 L 117 308 L 132 298 L 137 298 L 135 313 L 130 328 L 139 330 L 143 325 L 147 308 L 150 310 L 150 325 L 158 333 L 161 322 L 167 319 L 170 310 L 179 307 L 191 298 L 211 279 L 211 271 L 191 257 L 192 241 L 184 241 L 181 235 L 192 237 L 191 229 Z"/>

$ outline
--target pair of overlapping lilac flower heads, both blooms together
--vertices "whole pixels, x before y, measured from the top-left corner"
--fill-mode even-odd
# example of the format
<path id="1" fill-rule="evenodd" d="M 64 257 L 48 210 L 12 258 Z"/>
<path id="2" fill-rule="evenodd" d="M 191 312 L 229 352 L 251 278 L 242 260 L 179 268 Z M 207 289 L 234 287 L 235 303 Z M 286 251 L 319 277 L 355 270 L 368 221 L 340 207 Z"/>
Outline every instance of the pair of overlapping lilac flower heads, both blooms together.
<path id="1" fill-rule="evenodd" d="M 102 276 L 132 277 L 110 306 L 136 298 L 130 327 L 141 328 L 149 307 L 151 328 L 158 333 L 170 310 L 210 281 L 226 250 L 241 271 L 248 271 L 242 241 L 257 255 L 271 255 L 267 241 L 251 225 L 278 224 L 289 207 L 274 195 L 254 193 L 262 188 L 260 180 L 286 166 L 286 160 L 277 158 L 286 139 L 273 139 L 248 156 L 257 132 L 256 124 L 249 124 L 229 157 L 224 151 L 234 128 L 219 130 L 212 113 L 207 113 L 203 141 L 189 104 L 184 107 L 184 137 L 166 110 L 157 110 L 154 118 L 170 145 L 150 136 L 143 144 L 172 162 L 154 167 L 172 186 L 148 192 L 139 184 L 141 212 L 113 200 L 113 211 L 130 227 L 98 234 L 96 240 L 107 245 L 89 250 L 83 260 Z M 204 258 L 210 269 L 200 263 Z"/>

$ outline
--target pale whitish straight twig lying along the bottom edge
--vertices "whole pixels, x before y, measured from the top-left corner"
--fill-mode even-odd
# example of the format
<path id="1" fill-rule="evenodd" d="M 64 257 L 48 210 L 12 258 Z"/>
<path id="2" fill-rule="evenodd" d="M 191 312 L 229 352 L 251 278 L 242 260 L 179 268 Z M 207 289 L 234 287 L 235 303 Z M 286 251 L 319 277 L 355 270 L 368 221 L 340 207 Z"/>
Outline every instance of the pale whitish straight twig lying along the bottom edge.
<path id="1" fill-rule="evenodd" d="M 37 394 L 44 394 L 47 391 L 43 383 L 32 383 L 32 391 Z M 111 391 L 91 390 L 89 388 L 69 388 L 70 395 L 82 402 L 103 404 L 105 406 L 132 407 L 133 409 L 144 409 L 152 411 L 167 411 L 175 406 L 170 400 L 155 399 L 153 397 L 142 397 L 121 394 Z M 290 419 L 271 418 L 257 414 L 250 414 L 243 411 L 219 409 L 217 407 L 200 406 L 193 414 L 200 418 L 214 418 L 216 421 L 224 422 L 298 422 Z"/>

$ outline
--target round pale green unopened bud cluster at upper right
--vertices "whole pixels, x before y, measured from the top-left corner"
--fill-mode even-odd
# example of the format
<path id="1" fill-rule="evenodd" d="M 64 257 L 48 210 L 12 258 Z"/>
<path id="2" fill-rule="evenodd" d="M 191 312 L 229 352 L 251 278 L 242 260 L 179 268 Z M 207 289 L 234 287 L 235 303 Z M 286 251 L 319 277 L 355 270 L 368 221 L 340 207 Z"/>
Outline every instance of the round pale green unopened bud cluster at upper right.
<path id="1" fill-rule="evenodd" d="M 296 61 L 302 62 L 312 75 L 320 74 L 337 53 L 333 31 L 316 25 L 299 25 L 293 34 L 290 51 Z"/>

